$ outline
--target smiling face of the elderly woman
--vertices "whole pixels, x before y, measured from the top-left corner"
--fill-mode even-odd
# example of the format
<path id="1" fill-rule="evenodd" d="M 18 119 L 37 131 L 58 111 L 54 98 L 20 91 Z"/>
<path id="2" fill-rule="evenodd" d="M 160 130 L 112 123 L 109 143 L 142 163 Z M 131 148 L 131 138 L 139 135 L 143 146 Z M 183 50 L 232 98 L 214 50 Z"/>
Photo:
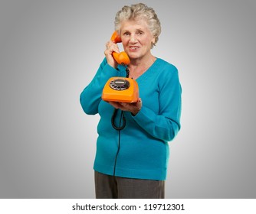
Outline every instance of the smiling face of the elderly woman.
<path id="1" fill-rule="evenodd" d="M 152 43 L 155 43 L 155 37 L 149 31 L 148 25 L 143 19 L 139 21 L 122 21 L 120 37 L 123 49 L 130 59 L 141 59 L 151 54 Z"/>

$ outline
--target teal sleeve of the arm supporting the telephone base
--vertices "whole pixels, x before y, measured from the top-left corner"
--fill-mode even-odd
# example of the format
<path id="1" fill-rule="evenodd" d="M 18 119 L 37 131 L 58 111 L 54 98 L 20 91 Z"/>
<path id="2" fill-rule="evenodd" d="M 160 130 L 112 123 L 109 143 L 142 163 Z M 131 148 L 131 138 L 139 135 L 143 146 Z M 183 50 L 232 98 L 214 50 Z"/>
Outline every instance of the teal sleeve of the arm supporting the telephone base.
<path id="1" fill-rule="evenodd" d="M 162 141 L 172 141 L 180 129 L 182 107 L 182 88 L 178 70 L 165 72 L 159 79 L 159 112 L 153 112 L 149 106 L 143 106 L 133 119 L 149 135 Z"/>

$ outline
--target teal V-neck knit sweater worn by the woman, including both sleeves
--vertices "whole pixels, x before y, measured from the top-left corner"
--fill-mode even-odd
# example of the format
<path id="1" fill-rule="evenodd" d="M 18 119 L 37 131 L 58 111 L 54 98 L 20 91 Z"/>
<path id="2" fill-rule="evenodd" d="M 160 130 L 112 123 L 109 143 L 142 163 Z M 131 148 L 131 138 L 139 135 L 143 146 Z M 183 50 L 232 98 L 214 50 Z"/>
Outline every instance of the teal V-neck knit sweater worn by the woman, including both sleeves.
<path id="1" fill-rule="evenodd" d="M 182 89 L 176 66 L 156 58 L 136 79 L 143 105 L 135 116 L 124 112 L 126 126 L 121 131 L 111 125 L 113 106 L 101 99 L 103 86 L 112 76 L 126 76 L 125 68 L 116 70 L 105 58 L 80 94 L 84 112 L 100 115 L 94 170 L 118 177 L 166 180 L 168 142 L 180 129 Z M 120 110 L 115 123 L 120 124 Z"/>

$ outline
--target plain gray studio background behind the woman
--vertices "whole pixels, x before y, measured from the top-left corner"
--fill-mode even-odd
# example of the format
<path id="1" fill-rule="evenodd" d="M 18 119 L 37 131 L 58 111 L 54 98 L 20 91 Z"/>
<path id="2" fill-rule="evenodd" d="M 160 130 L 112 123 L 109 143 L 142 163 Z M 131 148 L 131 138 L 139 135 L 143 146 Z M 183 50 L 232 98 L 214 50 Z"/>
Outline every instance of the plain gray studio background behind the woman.
<path id="1" fill-rule="evenodd" d="M 99 118 L 79 96 L 134 2 L 0 1 L 1 198 L 94 198 Z M 166 197 L 255 198 L 255 2 L 144 2 L 182 83 Z"/>

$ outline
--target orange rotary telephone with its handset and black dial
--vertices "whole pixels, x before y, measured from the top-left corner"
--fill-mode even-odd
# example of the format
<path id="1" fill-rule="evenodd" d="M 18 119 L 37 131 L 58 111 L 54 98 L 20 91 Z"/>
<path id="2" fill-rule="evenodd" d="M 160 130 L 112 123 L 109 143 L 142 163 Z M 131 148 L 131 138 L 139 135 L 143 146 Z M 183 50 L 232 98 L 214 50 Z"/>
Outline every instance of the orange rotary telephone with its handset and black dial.
<path id="1" fill-rule="evenodd" d="M 110 38 L 114 43 L 121 42 L 121 38 L 114 31 Z M 130 59 L 124 51 L 112 53 L 117 63 L 127 66 Z M 129 70 L 126 68 L 126 77 L 111 77 L 105 84 L 102 92 L 102 99 L 113 102 L 137 102 L 139 99 L 139 86 L 134 79 L 129 78 Z"/>

